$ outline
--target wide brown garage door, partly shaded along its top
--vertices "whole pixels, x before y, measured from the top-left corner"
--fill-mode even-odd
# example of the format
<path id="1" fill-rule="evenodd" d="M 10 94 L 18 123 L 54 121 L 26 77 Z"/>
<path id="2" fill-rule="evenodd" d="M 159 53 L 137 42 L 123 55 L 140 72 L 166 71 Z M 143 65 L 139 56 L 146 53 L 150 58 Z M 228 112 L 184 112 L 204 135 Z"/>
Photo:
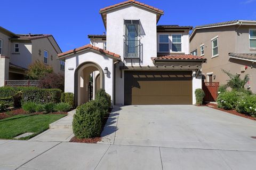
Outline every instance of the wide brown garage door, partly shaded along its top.
<path id="1" fill-rule="evenodd" d="M 125 71 L 125 104 L 192 104 L 191 71 Z"/>

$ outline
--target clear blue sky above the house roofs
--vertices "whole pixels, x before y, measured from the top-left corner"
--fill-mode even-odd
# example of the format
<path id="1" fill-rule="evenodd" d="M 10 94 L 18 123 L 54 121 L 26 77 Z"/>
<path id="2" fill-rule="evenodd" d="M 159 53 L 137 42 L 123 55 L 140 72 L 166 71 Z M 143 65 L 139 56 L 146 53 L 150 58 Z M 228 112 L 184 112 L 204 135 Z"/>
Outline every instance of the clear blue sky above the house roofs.
<path id="1" fill-rule="evenodd" d="M 64 52 L 88 44 L 88 34 L 102 34 L 105 28 L 99 10 L 123 1 L 3 0 L 1 26 L 16 34 L 52 34 Z M 197 26 L 256 20 L 256 0 L 140 2 L 164 10 L 158 25 Z"/>

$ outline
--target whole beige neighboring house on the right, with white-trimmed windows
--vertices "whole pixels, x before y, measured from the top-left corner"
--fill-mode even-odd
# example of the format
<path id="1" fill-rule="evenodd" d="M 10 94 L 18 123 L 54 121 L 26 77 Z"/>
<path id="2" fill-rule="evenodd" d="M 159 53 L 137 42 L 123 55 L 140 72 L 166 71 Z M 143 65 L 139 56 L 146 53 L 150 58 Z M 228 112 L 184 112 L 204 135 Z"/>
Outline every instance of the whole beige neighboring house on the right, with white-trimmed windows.
<path id="1" fill-rule="evenodd" d="M 205 82 L 226 84 L 231 74 L 250 75 L 245 87 L 256 93 L 256 21 L 236 20 L 197 26 L 190 35 L 190 52 L 204 56 Z"/>

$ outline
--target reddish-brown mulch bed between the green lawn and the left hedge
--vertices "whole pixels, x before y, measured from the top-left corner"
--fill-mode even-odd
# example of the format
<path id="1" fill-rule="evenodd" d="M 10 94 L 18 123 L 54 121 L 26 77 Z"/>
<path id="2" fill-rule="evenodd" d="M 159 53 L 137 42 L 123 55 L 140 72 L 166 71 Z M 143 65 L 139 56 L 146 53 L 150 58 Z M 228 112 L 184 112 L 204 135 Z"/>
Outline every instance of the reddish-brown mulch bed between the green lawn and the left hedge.
<path id="1" fill-rule="evenodd" d="M 45 113 L 44 112 L 35 112 L 33 114 L 27 114 L 27 112 L 25 110 L 23 110 L 22 108 L 19 108 L 19 109 L 12 109 L 8 112 L 0 113 L 0 120 L 15 116 L 15 115 L 42 115 L 42 114 L 45 114 Z M 51 114 L 53 114 L 53 115 L 66 114 L 67 115 L 68 112 L 52 112 Z"/>

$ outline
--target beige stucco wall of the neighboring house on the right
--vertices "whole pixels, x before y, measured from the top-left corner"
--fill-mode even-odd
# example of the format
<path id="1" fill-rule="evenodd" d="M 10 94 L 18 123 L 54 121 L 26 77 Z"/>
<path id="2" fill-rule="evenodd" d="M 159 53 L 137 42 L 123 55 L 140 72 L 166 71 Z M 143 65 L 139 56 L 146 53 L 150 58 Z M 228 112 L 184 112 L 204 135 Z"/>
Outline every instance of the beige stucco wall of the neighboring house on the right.
<path id="1" fill-rule="evenodd" d="M 240 34 L 238 38 L 236 37 L 235 30 L 237 27 L 238 26 L 228 26 L 228 27 L 198 29 L 196 31 L 196 34 L 193 36 L 193 38 L 190 39 L 190 52 L 193 52 L 194 50 L 197 49 L 197 53 L 198 55 L 200 55 L 199 47 L 202 44 L 204 44 L 205 50 L 204 50 L 203 56 L 204 58 L 207 59 L 207 63 L 203 64 L 202 72 L 206 77 L 205 82 L 208 81 L 207 73 L 212 72 L 213 76 L 216 76 L 215 79 L 213 79 L 213 82 L 220 82 L 220 84 L 226 84 L 229 77 L 225 73 L 223 73 L 222 69 L 230 71 L 232 74 L 241 74 L 242 78 L 244 77 L 245 74 L 249 74 L 251 80 L 248 85 L 250 85 L 251 90 L 254 93 L 256 93 L 256 84 L 253 83 L 256 81 L 255 63 L 253 64 L 252 62 L 229 59 L 228 53 L 235 53 L 236 51 L 239 53 L 242 53 L 242 52 L 246 53 L 246 49 L 247 49 L 247 53 L 252 53 L 252 51 L 249 52 L 248 50 L 249 45 L 246 45 L 244 43 L 245 41 L 249 43 L 248 35 L 246 36 L 246 34 L 243 34 L 243 35 Z M 241 30 L 243 30 L 243 28 Z M 214 38 L 215 36 L 218 36 L 219 38 L 218 40 L 219 56 L 212 58 L 211 39 Z M 241 44 L 244 44 L 244 45 L 241 45 Z M 236 50 L 236 46 L 239 46 L 238 50 Z M 247 46 L 247 48 L 245 48 L 245 46 Z M 243 50 L 241 50 L 241 48 Z M 248 67 L 244 72 L 241 72 L 241 68 L 244 66 L 250 66 L 250 67 Z"/>

